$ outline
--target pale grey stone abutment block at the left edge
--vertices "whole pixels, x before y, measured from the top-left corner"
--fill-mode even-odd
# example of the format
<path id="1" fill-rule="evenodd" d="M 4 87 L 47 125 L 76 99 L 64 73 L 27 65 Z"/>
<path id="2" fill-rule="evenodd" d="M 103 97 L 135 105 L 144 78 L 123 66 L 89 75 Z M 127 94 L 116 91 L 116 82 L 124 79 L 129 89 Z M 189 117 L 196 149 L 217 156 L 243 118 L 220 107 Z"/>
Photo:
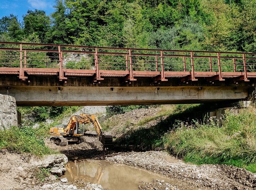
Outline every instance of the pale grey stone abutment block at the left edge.
<path id="1" fill-rule="evenodd" d="M 18 126 L 16 101 L 12 96 L 0 94 L 0 128 Z"/>

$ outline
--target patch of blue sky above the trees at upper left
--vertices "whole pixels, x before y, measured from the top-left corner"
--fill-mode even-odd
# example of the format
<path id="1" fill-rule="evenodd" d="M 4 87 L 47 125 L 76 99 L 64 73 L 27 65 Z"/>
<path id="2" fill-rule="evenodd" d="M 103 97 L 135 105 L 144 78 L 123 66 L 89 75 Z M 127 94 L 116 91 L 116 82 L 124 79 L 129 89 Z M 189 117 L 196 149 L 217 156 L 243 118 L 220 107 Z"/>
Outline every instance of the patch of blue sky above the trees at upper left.
<path id="1" fill-rule="evenodd" d="M 14 14 L 22 21 L 28 10 L 43 10 L 46 15 L 54 12 L 54 0 L 0 0 L 0 18 Z"/>

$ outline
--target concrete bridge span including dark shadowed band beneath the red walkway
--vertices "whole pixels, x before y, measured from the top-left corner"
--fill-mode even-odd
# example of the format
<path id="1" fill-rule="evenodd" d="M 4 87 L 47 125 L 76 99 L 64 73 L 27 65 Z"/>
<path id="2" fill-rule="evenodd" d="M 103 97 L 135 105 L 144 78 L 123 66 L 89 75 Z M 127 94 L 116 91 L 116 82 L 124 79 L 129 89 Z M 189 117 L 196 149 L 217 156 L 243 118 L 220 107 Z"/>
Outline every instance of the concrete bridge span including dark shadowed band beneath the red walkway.
<path id="1" fill-rule="evenodd" d="M 34 76 L 25 83 L 16 76 L 1 76 L 0 94 L 15 97 L 17 106 L 135 105 L 229 103 L 246 99 L 253 90 L 248 82 L 177 81 L 174 78 L 158 84 L 138 78 L 127 84 L 118 78 L 105 78 L 100 84 L 92 84 L 89 79 L 73 77 L 61 83 L 55 77 Z"/>

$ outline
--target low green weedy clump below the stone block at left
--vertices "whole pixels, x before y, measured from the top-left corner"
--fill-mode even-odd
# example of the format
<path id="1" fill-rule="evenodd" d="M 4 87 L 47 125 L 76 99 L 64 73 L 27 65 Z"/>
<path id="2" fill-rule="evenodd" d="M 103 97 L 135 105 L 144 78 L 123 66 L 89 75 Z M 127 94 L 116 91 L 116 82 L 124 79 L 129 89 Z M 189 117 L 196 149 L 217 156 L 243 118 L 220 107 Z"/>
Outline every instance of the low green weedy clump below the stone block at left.
<path id="1" fill-rule="evenodd" d="M 54 153 L 45 146 L 43 137 L 38 136 L 38 129 L 32 127 L 15 127 L 0 130 L 0 149 L 10 152 L 32 153 L 38 156 Z"/>

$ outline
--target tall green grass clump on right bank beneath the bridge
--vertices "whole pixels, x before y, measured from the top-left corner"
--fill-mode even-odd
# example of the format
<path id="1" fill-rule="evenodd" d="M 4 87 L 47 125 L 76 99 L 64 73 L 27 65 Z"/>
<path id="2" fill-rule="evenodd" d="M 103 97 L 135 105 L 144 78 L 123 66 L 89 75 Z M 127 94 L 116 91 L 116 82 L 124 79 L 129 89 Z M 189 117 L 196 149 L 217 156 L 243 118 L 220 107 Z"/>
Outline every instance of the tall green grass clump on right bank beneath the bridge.
<path id="1" fill-rule="evenodd" d="M 166 150 L 194 164 L 228 164 L 256 173 L 256 113 L 227 114 L 223 125 L 176 121 L 164 138 Z"/>

